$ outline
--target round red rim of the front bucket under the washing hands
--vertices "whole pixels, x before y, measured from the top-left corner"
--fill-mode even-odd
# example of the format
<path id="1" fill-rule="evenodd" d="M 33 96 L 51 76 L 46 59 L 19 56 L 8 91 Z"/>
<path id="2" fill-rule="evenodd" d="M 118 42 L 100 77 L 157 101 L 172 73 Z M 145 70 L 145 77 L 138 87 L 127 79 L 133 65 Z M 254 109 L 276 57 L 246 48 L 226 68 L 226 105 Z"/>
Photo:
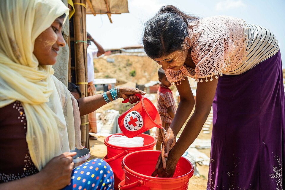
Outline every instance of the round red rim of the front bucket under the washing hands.
<path id="1" fill-rule="evenodd" d="M 165 180 L 165 181 L 177 181 L 179 179 L 183 179 L 183 178 L 191 178 L 194 174 L 194 167 L 193 167 L 193 164 L 186 158 L 184 157 L 181 157 L 183 159 L 185 159 L 187 162 L 189 162 L 189 164 L 191 165 L 191 170 L 184 174 L 184 175 L 181 175 L 181 176 L 178 176 L 178 177 L 175 177 L 175 178 L 158 178 L 158 177 L 152 177 L 152 176 L 149 176 L 149 175 L 143 175 L 143 174 L 140 174 L 140 173 L 137 173 L 137 172 L 134 172 L 133 170 L 131 170 L 129 167 L 126 166 L 125 164 L 125 161 L 126 161 L 126 158 L 132 154 L 135 154 L 135 153 L 138 153 L 138 152 L 154 152 L 154 151 L 151 151 L 151 150 L 145 150 L 145 151 L 136 151 L 136 152 L 132 152 L 132 153 L 129 153 L 127 154 L 123 160 L 122 160 L 122 167 L 124 169 L 124 172 L 128 172 L 129 174 L 131 175 L 134 175 L 134 176 L 137 176 L 137 177 L 144 177 L 143 179 L 145 180 L 149 180 L 149 179 L 153 179 L 153 180 Z M 155 152 L 160 152 L 160 151 L 155 151 Z"/>

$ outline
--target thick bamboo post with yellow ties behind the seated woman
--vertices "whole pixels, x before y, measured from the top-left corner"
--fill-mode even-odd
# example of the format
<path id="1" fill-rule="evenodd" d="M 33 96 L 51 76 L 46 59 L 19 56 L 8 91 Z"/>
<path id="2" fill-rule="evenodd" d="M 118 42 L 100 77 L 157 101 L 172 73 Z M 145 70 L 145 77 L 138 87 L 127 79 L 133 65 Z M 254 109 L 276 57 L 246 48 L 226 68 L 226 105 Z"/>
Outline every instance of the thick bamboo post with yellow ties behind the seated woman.
<path id="1" fill-rule="evenodd" d="M 74 3 L 84 3 L 85 0 L 73 0 Z M 87 80 L 86 80 L 86 29 L 85 29 L 85 11 L 83 11 L 82 5 L 74 4 L 75 13 L 74 19 L 74 37 L 75 37 L 75 67 L 76 67 L 76 83 L 80 86 L 81 97 L 88 96 L 87 94 Z M 85 40 L 84 40 L 85 39 Z M 82 145 L 89 148 L 89 135 L 87 115 L 81 116 L 81 141 Z"/>

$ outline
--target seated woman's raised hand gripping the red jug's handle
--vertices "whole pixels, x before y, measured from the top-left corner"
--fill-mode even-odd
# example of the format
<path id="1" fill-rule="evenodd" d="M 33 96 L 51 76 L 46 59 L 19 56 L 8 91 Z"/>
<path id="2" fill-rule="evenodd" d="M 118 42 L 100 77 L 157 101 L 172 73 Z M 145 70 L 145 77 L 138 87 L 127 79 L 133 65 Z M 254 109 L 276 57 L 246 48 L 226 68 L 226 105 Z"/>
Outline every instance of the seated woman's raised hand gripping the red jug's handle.
<path id="1" fill-rule="evenodd" d="M 139 90 L 138 88 L 131 88 L 131 87 L 120 87 L 119 88 L 119 95 L 120 98 L 129 99 L 131 104 L 137 103 L 140 101 L 140 97 L 133 96 L 134 94 L 146 94 L 144 91 Z"/>

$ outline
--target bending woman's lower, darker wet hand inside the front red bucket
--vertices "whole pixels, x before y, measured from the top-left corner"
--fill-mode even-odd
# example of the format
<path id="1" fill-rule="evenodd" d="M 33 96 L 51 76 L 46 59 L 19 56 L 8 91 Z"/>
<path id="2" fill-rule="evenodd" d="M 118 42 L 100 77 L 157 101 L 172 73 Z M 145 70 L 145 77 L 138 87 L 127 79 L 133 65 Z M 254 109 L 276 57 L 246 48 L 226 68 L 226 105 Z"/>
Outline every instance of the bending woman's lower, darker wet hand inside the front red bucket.
<path id="1" fill-rule="evenodd" d="M 164 168 L 162 166 L 162 163 L 160 163 L 156 170 L 151 174 L 151 176 L 156 177 L 157 175 L 158 178 L 172 178 L 176 169 L 177 162 L 178 161 L 176 161 L 174 156 L 171 155 L 170 151 L 169 156 L 166 160 L 166 168 Z"/>

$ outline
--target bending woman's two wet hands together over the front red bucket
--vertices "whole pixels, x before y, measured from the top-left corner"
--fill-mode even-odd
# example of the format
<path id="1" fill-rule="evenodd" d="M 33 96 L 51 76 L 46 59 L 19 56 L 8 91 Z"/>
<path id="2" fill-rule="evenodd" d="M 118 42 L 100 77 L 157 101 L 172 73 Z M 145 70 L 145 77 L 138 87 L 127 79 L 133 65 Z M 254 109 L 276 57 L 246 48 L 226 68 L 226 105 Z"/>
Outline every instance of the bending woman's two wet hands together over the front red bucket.
<path id="1" fill-rule="evenodd" d="M 173 176 L 178 160 L 176 161 L 174 156 L 172 156 L 170 150 L 173 148 L 175 143 L 176 137 L 173 134 L 172 129 L 169 128 L 167 130 L 167 136 L 162 142 L 162 151 L 157 160 L 155 171 L 151 176 L 155 177 L 157 175 L 159 178 L 167 178 Z"/>

